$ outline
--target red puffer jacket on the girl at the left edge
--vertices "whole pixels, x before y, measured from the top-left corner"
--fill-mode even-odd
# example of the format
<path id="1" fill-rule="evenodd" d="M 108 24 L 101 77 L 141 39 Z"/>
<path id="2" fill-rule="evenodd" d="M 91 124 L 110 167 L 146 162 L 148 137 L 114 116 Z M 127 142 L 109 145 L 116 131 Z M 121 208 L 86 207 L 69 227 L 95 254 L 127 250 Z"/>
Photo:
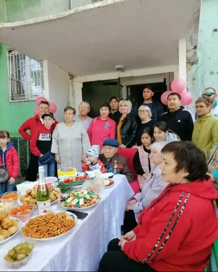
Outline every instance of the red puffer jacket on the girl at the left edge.
<path id="1" fill-rule="evenodd" d="M 13 143 L 7 143 L 7 149 L 5 150 L 5 152 L 3 152 L 2 148 L 0 148 L 0 154 L 0 165 L 6 164 L 9 178 L 16 179 L 19 174 L 20 162 Z"/>

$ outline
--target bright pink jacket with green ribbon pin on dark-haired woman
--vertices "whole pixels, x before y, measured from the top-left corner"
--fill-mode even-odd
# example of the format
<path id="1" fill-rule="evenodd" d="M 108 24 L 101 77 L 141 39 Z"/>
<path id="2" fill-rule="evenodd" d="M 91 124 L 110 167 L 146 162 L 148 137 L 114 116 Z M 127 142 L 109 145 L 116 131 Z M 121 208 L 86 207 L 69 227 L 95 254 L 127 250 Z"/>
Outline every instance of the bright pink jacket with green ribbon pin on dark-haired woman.
<path id="1" fill-rule="evenodd" d="M 110 138 L 115 139 L 116 123 L 110 117 L 107 117 L 106 120 L 102 120 L 100 116 L 98 116 L 92 119 L 87 133 L 91 145 L 100 145 L 100 149 L 102 149 L 102 143 L 104 140 Z"/>

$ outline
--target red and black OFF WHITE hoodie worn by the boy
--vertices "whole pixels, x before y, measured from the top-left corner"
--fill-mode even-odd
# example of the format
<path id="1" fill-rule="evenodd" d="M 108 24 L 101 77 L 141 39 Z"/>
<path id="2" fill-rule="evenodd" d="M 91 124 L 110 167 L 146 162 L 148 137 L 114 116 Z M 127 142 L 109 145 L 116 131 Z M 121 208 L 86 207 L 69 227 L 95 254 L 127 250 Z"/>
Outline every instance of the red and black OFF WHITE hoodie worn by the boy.
<path id="1" fill-rule="evenodd" d="M 30 150 L 33 155 L 40 157 L 41 154 L 44 155 L 51 149 L 51 135 L 53 130 L 52 126 L 50 129 L 47 129 L 42 124 L 35 129 L 30 142 Z"/>

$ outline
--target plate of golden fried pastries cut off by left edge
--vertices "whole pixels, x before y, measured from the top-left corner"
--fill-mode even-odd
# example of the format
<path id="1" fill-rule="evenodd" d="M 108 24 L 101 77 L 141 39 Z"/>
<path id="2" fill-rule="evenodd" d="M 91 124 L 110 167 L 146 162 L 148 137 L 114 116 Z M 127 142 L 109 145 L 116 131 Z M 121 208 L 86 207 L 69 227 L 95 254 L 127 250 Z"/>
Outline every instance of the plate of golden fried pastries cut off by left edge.
<path id="1" fill-rule="evenodd" d="M 14 237 L 22 228 L 22 221 L 7 213 L 0 213 L 0 244 Z"/>

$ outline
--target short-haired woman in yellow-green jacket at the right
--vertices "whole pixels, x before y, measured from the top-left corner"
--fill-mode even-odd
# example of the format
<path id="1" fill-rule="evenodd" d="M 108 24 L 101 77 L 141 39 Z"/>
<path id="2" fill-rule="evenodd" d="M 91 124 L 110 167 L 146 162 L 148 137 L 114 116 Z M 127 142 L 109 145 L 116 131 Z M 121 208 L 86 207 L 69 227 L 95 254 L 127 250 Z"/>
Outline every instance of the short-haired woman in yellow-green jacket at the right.
<path id="1" fill-rule="evenodd" d="M 211 101 L 207 96 L 199 97 L 195 108 L 197 120 L 192 133 L 192 143 L 205 153 L 208 160 L 211 148 L 218 142 L 218 118 L 211 113 Z"/>

